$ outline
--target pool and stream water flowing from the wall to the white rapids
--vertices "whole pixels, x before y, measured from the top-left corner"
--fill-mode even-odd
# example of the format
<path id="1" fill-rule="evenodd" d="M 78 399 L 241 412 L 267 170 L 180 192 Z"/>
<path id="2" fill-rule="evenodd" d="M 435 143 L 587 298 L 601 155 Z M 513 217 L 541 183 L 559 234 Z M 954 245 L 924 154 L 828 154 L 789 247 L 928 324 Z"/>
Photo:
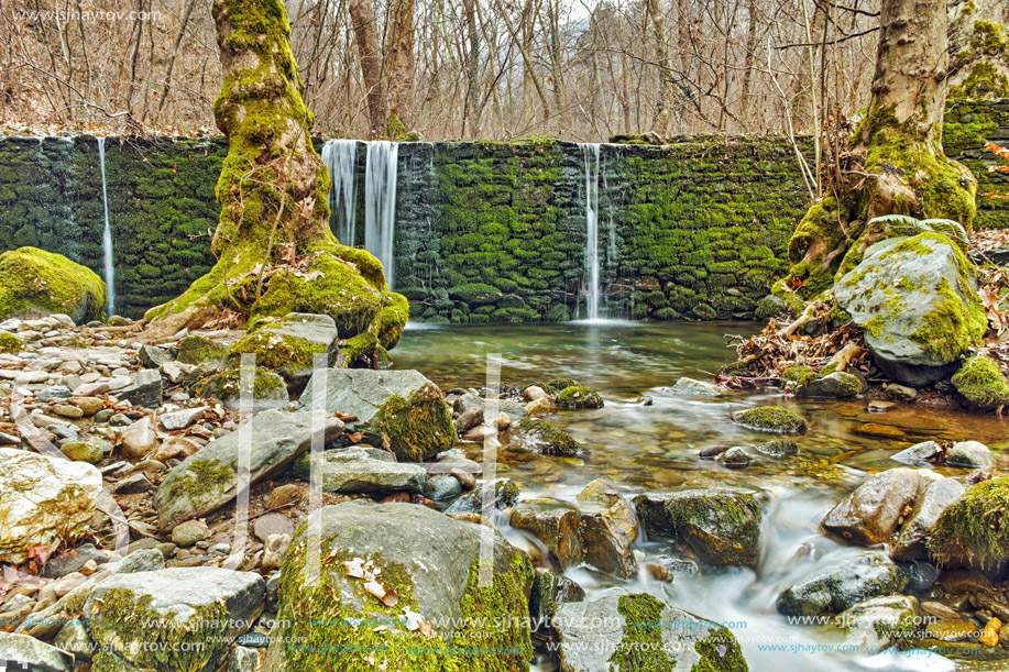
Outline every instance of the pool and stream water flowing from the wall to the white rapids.
<path id="1" fill-rule="evenodd" d="M 869 414 L 864 400 L 796 403 L 779 395 L 695 398 L 668 390 L 680 376 L 706 378 L 733 360 L 734 351 L 726 348 L 724 334 L 749 335 L 754 330 L 753 322 L 412 324 L 393 357 L 396 367 L 417 368 L 446 390 L 482 388 L 487 354 L 501 353 L 505 386 L 522 387 L 564 376 L 602 393 L 604 408 L 548 418 L 588 448 L 584 459 L 562 460 L 517 447 L 502 448 L 497 471 L 523 485 L 523 498 L 550 496 L 571 502 L 586 483 L 605 476 L 628 496 L 682 486 L 730 487 L 759 492 L 767 502 L 756 572 L 703 570 L 677 574 L 666 584 L 648 576 L 619 583 L 585 569 L 568 571 L 590 598 L 615 590 L 648 592 L 724 623 L 739 640 L 755 672 L 792 664 L 803 672 L 952 670 L 948 660 L 923 651 L 875 657 L 845 652 L 838 632 L 790 625 L 777 614 L 775 602 L 813 563 L 844 552 L 843 544 L 822 535 L 819 524 L 866 472 L 900 466 L 890 455 L 926 439 L 975 439 L 1002 449 L 1009 444 L 1009 420 L 942 410 L 922 412 L 921 407 Z M 643 405 L 643 396 L 654 403 Z M 809 433 L 798 438 L 798 458 L 741 471 L 698 458 L 698 451 L 708 445 L 766 441 L 766 436 L 733 425 L 730 414 L 768 404 L 793 408 L 811 421 Z M 866 422 L 897 427 L 904 438 L 859 436 L 855 430 Z M 481 450 L 472 447 L 470 456 L 479 460 Z M 506 532 L 517 543 L 530 543 L 515 530 Z M 668 550 L 659 543 L 638 541 L 637 546 L 646 555 L 658 557 Z"/>

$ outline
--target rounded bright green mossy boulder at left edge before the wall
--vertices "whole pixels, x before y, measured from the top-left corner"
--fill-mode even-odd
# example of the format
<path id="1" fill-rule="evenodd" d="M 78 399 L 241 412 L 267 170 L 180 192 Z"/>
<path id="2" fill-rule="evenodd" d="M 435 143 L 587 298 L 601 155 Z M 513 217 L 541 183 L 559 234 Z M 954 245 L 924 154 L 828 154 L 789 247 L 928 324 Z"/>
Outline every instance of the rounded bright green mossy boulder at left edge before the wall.
<path id="1" fill-rule="evenodd" d="M 106 284 L 90 268 L 36 247 L 0 254 L 0 320 L 64 313 L 79 324 L 105 307 Z"/>

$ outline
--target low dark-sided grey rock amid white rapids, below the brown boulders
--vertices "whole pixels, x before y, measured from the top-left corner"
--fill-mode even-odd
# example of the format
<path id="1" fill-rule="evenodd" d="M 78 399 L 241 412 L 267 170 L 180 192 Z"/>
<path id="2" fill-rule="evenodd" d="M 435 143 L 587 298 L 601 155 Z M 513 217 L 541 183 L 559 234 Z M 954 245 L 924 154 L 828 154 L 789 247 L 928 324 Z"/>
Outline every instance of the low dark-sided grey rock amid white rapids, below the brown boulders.
<path id="1" fill-rule="evenodd" d="M 824 555 L 778 596 L 786 616 L 840 614 L 870 597 L 900 592 L 907 576 L 884 551 L 845 548 Z"/>

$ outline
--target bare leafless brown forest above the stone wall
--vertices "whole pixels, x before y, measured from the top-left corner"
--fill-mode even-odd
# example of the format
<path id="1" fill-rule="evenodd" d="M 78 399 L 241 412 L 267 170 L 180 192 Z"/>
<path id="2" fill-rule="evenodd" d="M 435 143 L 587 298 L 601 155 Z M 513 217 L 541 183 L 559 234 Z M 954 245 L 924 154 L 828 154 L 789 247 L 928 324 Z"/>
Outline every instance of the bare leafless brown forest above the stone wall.
<path id="1" fill-rule="evenodd" d="M 951 15 L 1005 14 L 987 1 L 953 1 Z M 289 0 L 287 11 L 323 136 L 592 142 L 843 128 L 868 98 L 878 4 Z M 14 0 L 2 11 L 3 125 L 213 132 L 209 0 Z"/>

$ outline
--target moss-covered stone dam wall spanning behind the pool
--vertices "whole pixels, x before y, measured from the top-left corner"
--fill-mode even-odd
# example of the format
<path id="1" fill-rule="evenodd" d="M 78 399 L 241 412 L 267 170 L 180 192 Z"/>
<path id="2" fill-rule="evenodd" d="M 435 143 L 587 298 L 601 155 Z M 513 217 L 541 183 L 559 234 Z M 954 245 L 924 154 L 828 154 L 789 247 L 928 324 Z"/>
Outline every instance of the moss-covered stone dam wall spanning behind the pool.
<path id="1" fill-rule="evenodd" d="M 1009 144 L 1009 101 L 953 103 L 945 146 L 978 176 L 976 225 L 1009 227 L 1009 199 L 999 198 L 1009 196 L 1009 175 L 987 170 L 995 156 L 985 142 Z M 807 208 L 791 145 L 710 136 L 597 147 L 595 158 L 586 145 L 548 139 L 401 143 L 393 263 L 412 318 L 750 317 L 786 271 Z M 213 264 L 226 152 L 222 139 L 107 139 L 121 315 L 177 296 Z M 381 233 L 368 155 L 357 143 L 343 176 L 355 192 L 358 245 Z M 95 137 L 0 137 L 0 251 L 34 245 L 102 275 L 105 205 Z M 342 206 L 332 223 L 346 240 Z"/>

